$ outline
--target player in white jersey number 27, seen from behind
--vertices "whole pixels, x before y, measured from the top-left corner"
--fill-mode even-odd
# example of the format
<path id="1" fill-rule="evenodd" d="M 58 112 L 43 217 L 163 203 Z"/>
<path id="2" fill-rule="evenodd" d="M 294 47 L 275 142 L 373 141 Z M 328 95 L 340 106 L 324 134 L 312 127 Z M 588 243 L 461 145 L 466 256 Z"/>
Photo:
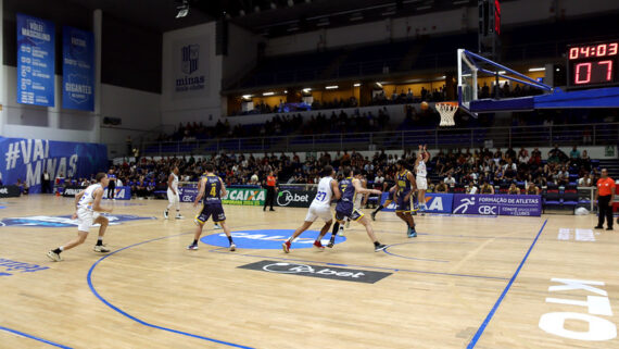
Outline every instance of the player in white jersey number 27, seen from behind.
<path id="1" fill-rule="evenodd" d="M 294 241 L 303 232 L 307 230 L 312 223 L 314 223 L 318 217 L 325 221 L 325 225 L 320 229 L 320 234 L 314 241 L 314 247 L 318 249 L 325 249 L 320 240 L 329 232 L 331 223 L 333 223 L 333 215 L 331 213 L 331 198 L 340 199 L 340 189 L 338 188 L 338 180 L 334 179 L 336 172 L 331 165 L 326 165 L 323 171 L 323 178 L 318 183 L 318 192 L 312 201 L 310 209 L 307 210 L 307 215 L 305 216 L 305 222 L 301 225 L 291 237 L 289 237 L 281 248 L 286 253 L 290 252 L 290 244 Z"/>

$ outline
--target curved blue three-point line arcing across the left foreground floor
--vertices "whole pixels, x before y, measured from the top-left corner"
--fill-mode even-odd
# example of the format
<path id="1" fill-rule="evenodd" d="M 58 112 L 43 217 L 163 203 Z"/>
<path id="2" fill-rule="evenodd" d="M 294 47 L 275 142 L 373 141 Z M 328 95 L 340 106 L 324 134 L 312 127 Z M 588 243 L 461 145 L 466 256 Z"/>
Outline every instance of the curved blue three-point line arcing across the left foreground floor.
<path id="1" fill-rule="evenodd" d="M 205 336 L 200 336 L 200 335 L 194 335 L 194 334 L 190 334 L 187 332 L 182 332 L 182 331 L 178 331 L 178 329 L 173 329 L 173 328 L 168 328 L 168 327 L 163 327 L 163 326 L 159 326 L 159 325 L 154 325 L 151 323 L 148 323 L 143 320 L 140 320 L 127 312 L 125 312 L 124 310 L 119 309 L 118 307 L 110 303 L 105 298 L 103 298 L 101 295 L 99 295 L 99 292 L 97 291 L 97 289 L 94 289 L 94 285 L 92 284 L 92 272 L 94 271 L 94 269 L 97 267 L 97 265 L 99 265 L 100 262 L 104 261 L 106 258 L 114 255 L 121 251 L 124 251 L 126 249 L 136 247 L 136 246 L 140 246 L 140 245 L 144 245 L 144 244 L 149 244 L 149 242 L 153 242 L 153 241 L 157 241 L 157 240 L 163 240 L 163 239 L 167 239 L 170 237 L 177 237 L 177 236 L 182 236 L 182 235 L 188 235 L 188 234 L 193 234 L 192 232 L 189 233 L 180 233 L 180 234 L 175 234 L 175 235 L 168 235 L 168 236 L 163 236 L 163 237 L 159 237 L 159 238 L 154 238 L 154 239 L 150 239 L 150 240 L 146 240 L 146 241 L 141 241 L 141 242 L 137 242 L 134 245 L 129 245 L 126 246 L 122 249 L 118 249 L 116 251 L 110 252 L 109 254 L 103 255 L 102 258 L 100 258 L 99 260 L 97 260 L 97 262 L 94 262 L 90 269 L 88 270 L 88 275 L 86 276 L 86 281 L 88 282 L 88 287 L 90 287 L 90 291 L 105 306 L 108 306 L 110 309 L 116 311 L 117 313 L 119 313 L 121 315 L 132 320 L 141 325 L 144 325 L 147 327 L 151 327 L 151 328 L 156 328 L 156 329 L 162 329 L 165 332 L 169 332 L 169 333 L 174 333 L 174 334 L 178 334 L 178 335 L 182 335 L 182 336 L 187 336 L 187 337 L 192 337 L 192 338 L 198 338 L 198 339 L 202 339 L 202 340 L 206 340 L 206 341 L 211 341 L 211 342 L 216 342 L 219 345 L 225 345 L 225 346 L 229 346 L 229 347 L 236 347 L 236 348 L 242 348 L 242 349 L 254 349 L 252 347 L 247 347 L 247 346 L 242 346 L 242 345 L 237 345 L 233 342 L 229 342 L 229 341 L 224 341 L 224 340 L 219 340 L 219 339 L 215 339 L 215 338 L 210 338 L 210 337 L 205 337 Z"/>

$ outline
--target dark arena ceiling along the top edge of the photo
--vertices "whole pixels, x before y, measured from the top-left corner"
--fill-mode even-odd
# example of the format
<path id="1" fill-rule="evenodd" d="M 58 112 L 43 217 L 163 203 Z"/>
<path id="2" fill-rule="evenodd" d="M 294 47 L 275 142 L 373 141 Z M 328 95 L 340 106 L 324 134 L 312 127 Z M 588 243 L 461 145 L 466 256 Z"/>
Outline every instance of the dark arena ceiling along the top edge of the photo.
<path id="1" fill-rule="evenodd" d="M 176 18 L 177 7 L 189 14 Z M 50 1 L 51 2 L 51 1 Z M 55 0 L 167 32 L 227 18 L 265 37 L 476 5 L 477 0 Z"/>

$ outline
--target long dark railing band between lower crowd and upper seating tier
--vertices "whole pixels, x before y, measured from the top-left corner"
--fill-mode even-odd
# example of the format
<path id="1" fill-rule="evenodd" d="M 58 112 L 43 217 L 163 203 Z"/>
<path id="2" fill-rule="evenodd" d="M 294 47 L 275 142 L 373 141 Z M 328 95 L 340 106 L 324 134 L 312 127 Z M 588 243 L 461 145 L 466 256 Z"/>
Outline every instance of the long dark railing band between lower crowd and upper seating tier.
<path id="1" fill-rule="evenodd" d="M 491 128 L 428 128 L 418 130 L 214 138 L 142 144 L 142 155 L 232 152 L 308 152 L 393 150 L 426 144 L 430 148 L 552 147 L 616 145 L 619 123 Z"/>

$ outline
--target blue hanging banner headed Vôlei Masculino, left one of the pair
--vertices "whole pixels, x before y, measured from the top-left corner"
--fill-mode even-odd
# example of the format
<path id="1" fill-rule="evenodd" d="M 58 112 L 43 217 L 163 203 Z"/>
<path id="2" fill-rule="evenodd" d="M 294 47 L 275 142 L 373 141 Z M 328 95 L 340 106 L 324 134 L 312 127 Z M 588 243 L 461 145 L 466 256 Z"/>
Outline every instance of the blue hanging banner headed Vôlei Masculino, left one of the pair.
<path id="1" fill-rule="evenodd" d="M 54 24 L 17 13 L 17 103 L 54 107 Z"/>

